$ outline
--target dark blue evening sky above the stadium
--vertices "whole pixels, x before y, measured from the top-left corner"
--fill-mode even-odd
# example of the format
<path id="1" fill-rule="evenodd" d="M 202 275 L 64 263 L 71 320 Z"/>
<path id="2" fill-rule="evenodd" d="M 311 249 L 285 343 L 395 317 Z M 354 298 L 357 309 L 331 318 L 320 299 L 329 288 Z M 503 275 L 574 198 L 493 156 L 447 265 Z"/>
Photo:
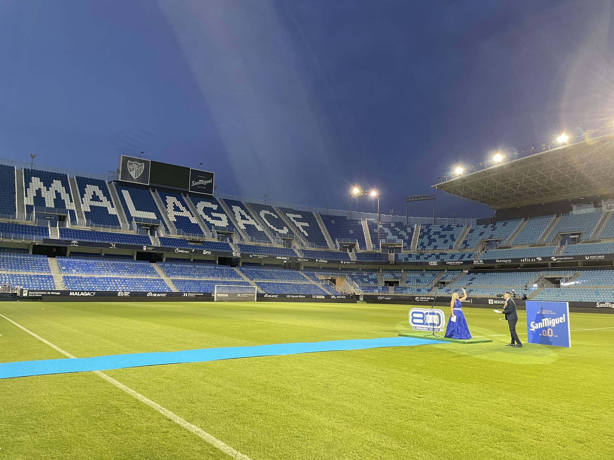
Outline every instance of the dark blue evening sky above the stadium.
<path id="1" fill-rule="evenodd" d="M 613 19 L 608 0 L 2 0 L 0 157 L 104 173 L 145 151 L 222 193 L 347 209 L 357 184 L 403 214 L 459 162 L 613 120 Z M 492 214 L 437 193 L 438 217 Z"/>

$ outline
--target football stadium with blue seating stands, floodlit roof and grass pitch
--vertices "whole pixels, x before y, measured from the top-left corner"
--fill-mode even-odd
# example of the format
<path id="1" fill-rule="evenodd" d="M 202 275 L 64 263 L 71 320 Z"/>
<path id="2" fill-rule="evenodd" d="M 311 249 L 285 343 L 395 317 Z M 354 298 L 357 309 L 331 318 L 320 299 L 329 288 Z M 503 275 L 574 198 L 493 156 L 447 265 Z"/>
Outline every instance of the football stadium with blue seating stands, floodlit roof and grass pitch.
<path id="1" fill-rule="evenodd" d="M 521 439 L 521 458 L 604 458 L 614 134 L 583 137 L 433 186 L 491 205 L 480 220 L 265 204 L 128 156 L 116 177 L 5 161 L 2 455 L 429 458 L 452 430 L 455 458 Z M 472 340 L 408 322 L 461 288 Z M 504 291 L 564 302 L 573 346 L 502 347 Z M 470 423 L 442 408 L 451 386 Z"/>

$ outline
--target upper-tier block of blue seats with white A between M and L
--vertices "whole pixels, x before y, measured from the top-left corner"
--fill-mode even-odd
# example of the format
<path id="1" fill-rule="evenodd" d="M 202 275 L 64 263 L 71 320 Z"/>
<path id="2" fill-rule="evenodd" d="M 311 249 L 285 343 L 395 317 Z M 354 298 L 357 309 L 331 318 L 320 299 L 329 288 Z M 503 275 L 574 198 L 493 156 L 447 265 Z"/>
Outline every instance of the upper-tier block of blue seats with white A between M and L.
<path id="1" fill-rule="evenodd" d="M 119 227 L 117 209 L 113 205 L 109 186 L 104 180 L 76 176 L 79 198 L 85 219 L 95 224 Z"/>

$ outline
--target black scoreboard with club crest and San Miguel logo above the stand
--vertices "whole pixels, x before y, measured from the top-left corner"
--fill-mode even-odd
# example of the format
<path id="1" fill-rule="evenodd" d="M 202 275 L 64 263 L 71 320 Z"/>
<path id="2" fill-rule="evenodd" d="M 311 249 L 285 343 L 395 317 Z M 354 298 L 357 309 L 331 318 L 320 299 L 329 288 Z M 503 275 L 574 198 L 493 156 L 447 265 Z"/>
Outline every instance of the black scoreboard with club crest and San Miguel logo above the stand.
<path id="1" fill-rule="evenodd" d="M 215 174 L 176 164 L 122 155 L 119 157 L 118 178 L 123 182 L 213 195 Z"/>

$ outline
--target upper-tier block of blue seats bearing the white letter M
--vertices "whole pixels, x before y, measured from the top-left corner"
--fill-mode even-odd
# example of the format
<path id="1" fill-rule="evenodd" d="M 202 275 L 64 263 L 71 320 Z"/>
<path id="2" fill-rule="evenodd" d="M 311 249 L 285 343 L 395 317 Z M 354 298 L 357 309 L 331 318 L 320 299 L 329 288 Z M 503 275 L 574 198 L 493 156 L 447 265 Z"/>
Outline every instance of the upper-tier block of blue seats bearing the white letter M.
<path id="1" fill-rule="evenodd" d="M 34 206 L 68 210 L 71 222 L 77 220 L 68 175 L 60 172 L 23 169 L 24 203 L 26 213 Z"/>

